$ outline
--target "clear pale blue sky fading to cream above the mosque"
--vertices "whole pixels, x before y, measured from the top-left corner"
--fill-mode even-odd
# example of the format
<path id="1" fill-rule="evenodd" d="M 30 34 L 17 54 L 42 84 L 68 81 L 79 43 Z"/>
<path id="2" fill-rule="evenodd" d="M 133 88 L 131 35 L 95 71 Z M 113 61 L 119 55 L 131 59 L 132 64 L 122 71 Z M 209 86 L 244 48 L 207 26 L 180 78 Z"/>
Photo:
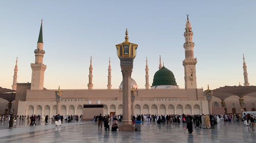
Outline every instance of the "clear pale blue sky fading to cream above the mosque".
<path id="1" fill-rule="evenodd" d="M 211 89 L 244 83 L 243 53 L 250 85 L 256 84 L 256 1 L 3 1 L 0 5 L 0 87 L 11 89 L 18 57 L 17 82 L 31 82 L 40 19 L 43 21 L 44 87 L 88 89 L 90 56 L 93 89 L 106 89 L 111 58 L 112 88 L 121 80 L 116 44 L 125 28 L 138 44 L 132 78 L 145 88 L 159 66 L 184 88 L 183 48 L 186 14 L 194 32 L 197 87 Z"/>

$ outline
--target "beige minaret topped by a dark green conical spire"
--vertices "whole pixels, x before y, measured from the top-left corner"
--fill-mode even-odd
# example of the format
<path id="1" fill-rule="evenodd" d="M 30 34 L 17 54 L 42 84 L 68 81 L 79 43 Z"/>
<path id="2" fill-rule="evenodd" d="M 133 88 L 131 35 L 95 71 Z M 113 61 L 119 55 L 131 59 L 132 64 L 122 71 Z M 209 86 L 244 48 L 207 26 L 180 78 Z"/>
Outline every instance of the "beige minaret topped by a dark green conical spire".
<path id="1" fill-rule="evenodd" d="M 46 65 L 42 63 L 44 59 L 45 50 L 43 49 L 44 43 L 42 42 L 42 19 L 41 27 L 37 41 L 37 48 L 34 50 L 35 63 L 31 63 L 32 78 L 31 78 L 31 90 L 42 90 L 44 89 L 44 75 Z"/>

